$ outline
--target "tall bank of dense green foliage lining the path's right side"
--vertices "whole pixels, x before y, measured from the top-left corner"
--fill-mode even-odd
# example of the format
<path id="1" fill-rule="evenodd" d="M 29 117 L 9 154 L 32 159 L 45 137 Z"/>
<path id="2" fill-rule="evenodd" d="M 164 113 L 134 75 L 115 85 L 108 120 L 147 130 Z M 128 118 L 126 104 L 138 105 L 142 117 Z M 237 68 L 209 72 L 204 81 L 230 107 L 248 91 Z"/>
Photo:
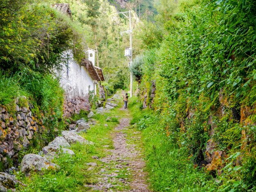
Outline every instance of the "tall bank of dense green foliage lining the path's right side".
<path id="1" fill-rule="evenodd" d="M 167 142 L 163 145 L 170 147 L 166 147 L 166 158 L 158 160 L 160 165 L 172 158 L 170 155 L 176 156 L 173 154 L 176 152 L 181 158 L 170 161 L 178 163 L 189 158 L 191 163 L 201 166 L 212 142 L 213 150 L 223 154 L 218 162 L 203 169 L 218 178 L 218 187 L 206 179 L 199 180 L 197 185 L 207 183 L 212 190 L 220 191 L 255 190 L 254 1 L 162 0 L 158 13 L 155 26 L 141 31 L 142 45 L 148 48 L 141 66 L 144 70 L 141 91 L 145 94 L 146 90 L 148 96 L 143 101 L 157 114 L 146 112 L 142 120 L 137 118 L 137 125 L 151 130 L 152 123 L 158 122 L 155 132 L 165 132 L 167 138 L 161 135 L 159 143 Z M 156 91 L 151 98 L 153 81 Z M 155 147 L 164 150 L 162 145 Z M 161 150 L 154 154 L 157 151 L 153 148 L 148 151 L 149 158 L 161 154 Z M 155 164 L 150 161 L 148 167 L 152 169 Z M 177 187 L 162 181 L 160 175 L 165 175 L 168 169 L 163 170 L 160 165 L 150 170 L 153 187 L 156 190 Z M 188 169 L 193 172 L 192 166 Z M 200 179 L 204 177 L 197 174 Z M 177 177 L 180 181 L 184 179 L 181 173 Z M 182 185 L 178 188 L 183 187 L 186 188 Z"/>

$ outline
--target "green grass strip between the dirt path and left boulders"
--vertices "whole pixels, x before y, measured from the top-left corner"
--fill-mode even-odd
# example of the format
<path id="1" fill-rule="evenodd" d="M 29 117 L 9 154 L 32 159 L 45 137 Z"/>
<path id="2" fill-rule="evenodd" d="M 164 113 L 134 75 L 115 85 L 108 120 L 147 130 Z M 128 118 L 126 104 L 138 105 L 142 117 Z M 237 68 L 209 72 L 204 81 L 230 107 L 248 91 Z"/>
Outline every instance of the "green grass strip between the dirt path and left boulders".
<path id="1" fill-rule="evenodd" d="M 23 174 L 18 174 L 18 177 L 27 187 L 20 191 L 82 191 L 83 185 L 97 182 L 97 177 L 94 174 L 99 171 L 99 168 L 88 171 L 86 163 L 95 162 L 101 165 L 101 162 L 92 159 L 92 156 L 99 158 L 106 156 L 108 152 L 104 150 L 103 145 L 112 147 L 110 139 L 110 131 L 117 125 L 116 121 L 106 122 L 108 115 L 112 116 L 115 112 L 105 115 L 97 114 L 95 116 L 97 125 L 94 125 L 86 133 L 82 134 L 85 139 L 94 142 L 94 145 L 74 144 L 71 146 L 76 156 L 67 154 L 61 155 L 54 162 L 60 166 L 58 170 L 45 171 L 44 174 L 34 173 L 30 177 Z M 108 124 L 108 127 L 104 124 Z"/>

